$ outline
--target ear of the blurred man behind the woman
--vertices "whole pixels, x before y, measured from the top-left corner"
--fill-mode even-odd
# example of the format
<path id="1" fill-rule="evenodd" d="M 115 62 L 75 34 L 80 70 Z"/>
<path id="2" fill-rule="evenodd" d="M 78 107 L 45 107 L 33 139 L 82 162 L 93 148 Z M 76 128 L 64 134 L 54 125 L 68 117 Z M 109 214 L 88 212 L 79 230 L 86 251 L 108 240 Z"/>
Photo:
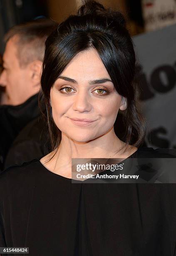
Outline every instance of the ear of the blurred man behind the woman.
<path id="1" fill-rule="evenodd" d="M 40 87 L 42 61 L 32 61 L 29 68 L 32 87 Z"/>

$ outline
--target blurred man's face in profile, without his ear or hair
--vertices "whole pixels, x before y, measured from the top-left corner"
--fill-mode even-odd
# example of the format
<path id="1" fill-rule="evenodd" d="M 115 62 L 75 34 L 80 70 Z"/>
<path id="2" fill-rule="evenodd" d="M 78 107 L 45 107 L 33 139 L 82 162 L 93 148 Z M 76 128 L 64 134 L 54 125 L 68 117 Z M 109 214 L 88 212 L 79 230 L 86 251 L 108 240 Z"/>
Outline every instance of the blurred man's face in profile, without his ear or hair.
<path id="1" fill-rule="evenodd" d="M 7 104 L 20 105 L 29 98 L 29 69 L 21 68 L 17 58 L 17 36 L 7 41 L 3 54 L 3 72 L 0 75 L 0 85 L 5 86 Z"/>

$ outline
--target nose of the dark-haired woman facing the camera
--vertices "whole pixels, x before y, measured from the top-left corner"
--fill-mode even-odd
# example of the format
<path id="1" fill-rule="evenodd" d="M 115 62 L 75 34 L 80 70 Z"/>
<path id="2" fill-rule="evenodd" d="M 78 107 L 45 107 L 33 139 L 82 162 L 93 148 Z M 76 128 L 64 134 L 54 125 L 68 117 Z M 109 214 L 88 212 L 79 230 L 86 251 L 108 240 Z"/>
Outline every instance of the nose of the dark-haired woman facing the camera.
<path id="1" fill-rule="evenodd" d="M 74 96 L 73 110 L 82 112 L 89 112 L 92 108 L 90 104 L 89 95 L 86 91 L 77 92 L 77 95 Z"/>

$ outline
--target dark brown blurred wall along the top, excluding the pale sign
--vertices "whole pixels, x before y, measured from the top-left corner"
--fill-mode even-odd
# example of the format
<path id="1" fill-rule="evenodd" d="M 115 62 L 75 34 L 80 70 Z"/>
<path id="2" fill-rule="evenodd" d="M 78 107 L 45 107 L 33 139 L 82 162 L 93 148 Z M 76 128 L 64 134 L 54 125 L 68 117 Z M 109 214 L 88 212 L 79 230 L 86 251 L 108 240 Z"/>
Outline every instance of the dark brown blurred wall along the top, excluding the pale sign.
<path id="1" fill-rule="evenodd" d="M 42 16 L 61 22 L 76 13 L 82 0 L 0 0 L 0 53 L 3 53 L 3 36 L 12 26 Z M 120 10 L 128 20 L 131 34 L 144 31 L 141 0 L 99 0 L 105 7 Z"/>

